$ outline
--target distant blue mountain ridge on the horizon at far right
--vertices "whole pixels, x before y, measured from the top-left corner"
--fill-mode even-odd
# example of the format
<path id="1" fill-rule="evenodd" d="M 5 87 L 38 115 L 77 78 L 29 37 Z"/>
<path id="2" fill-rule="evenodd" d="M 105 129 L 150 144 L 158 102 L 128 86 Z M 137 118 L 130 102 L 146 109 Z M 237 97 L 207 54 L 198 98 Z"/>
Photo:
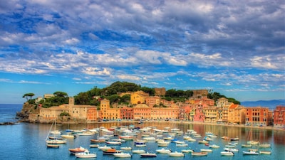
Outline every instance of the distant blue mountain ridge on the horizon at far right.
<path id="1" fill-rule="evenodd" d="M 258 101 L 244 101 L 241 102 L 244 107 L 269 107 L 270 110 L 274 110 L 276 106 L 285 106 L 285 100 L 258 100 Z"/>

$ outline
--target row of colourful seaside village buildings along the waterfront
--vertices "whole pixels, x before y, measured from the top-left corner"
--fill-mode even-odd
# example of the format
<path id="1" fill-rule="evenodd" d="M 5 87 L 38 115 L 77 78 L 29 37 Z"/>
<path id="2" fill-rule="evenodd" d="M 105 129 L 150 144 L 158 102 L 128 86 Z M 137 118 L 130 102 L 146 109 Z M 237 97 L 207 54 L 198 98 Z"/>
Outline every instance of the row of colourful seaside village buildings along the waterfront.
<path id="1" fill-rule="evenodd" d="M 142 121 L 187 121 L 201 123 L 244 124 L 247 126 L 264 127 L 273 125 L 285 127 L 285 106 L 276 106 L 275 110 L 268 107 L 244 107 L 235 105 L 224 97 L 214 102 L 207 98 L 207 90 L 193 90 L 193 96 L 185 102 L 163 100 L 165 88 L 155 88 L 155 96 L 146 92 L 124 92 L 120 96 L 130 94 L 130 106 L 110 106 L 109 100 L 100 100 L 100 110 L 93 105 L 75 105 L 74 97 L 69 97 L 68 104 L 43 108 L 38 114 L 30 114 L 29 119 L 38 122 L 51 122 L 57 119 L 61 123 L 94 123 L 105 121 L 137 120 Z M 48 98 L 45 95 L 44 97 Z M 96 97 L 94 97 L 96 98 Z M 160 107 L 157 107 L 160 106 Z M 161 107 L 163 106 L 163 107 Z M 60 116 L 68 112 L 70 116 Z"/>

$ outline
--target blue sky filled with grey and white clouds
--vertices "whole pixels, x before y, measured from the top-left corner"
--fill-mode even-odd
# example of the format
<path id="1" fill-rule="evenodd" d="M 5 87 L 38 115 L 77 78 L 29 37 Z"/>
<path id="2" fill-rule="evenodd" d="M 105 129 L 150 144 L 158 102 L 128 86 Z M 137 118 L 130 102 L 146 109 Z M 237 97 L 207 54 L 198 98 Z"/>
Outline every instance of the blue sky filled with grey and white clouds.
<path id="1" fill-rule="evenodd" d="M 116 81 L 285 99 L 284 1 L 0 0 L 0 103 Z"/>

